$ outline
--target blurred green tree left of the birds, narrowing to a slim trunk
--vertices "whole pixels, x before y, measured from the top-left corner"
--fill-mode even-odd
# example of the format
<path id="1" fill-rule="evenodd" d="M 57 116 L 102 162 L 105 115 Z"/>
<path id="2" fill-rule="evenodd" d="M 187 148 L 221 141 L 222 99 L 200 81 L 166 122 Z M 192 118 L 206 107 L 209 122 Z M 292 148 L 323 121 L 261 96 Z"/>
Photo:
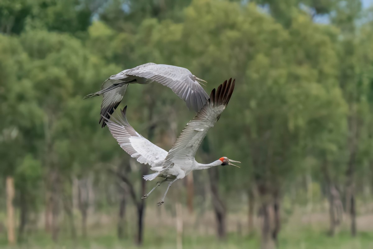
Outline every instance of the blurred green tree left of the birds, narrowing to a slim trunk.
<path id="1" fill-rule="evenodd" d="M 40 127 L 44 130 L 43 164 L 47 189 L 50 190 L 46 193 L 46 222 L 47 225 L 51 225 L 53 239 L 57 240 L 62 191 L 64 181 L 69 182 L 68 179 L 71 177 L 71 167 L 79 165 L 76 172 L 79 174 L 85 171 L 84 165 L 90 165 L 88 159 L 92 160 L 91 162 L 98 161 L 97 158 L 88 156 L 91 155 L 92 148 L 82 145 L 90 139 L 99 138 L 94 135 L 100 129 L 94 125 L 96 122 L 90 103 L 77 101 L 71 96 L 79 96 L 87 91 L 87 83 L 99 84 L 103 81 L 106 77 L 101 77 L 100 74 L 105 74 L 105 69 L 97 58 L 90 56 L 79 40 L 70 35 L 29 31 L 23 33 L 20 40 L 32 59 L 27 76 L 32 79 L 35 104 L 44 112 L 44 118 L 40 118 L 44 124 Z M 97 68 L 101 70 L 98 71 Z M 108 69 L 110 70 L 110 66 Z M 85 109 L 78 112 L 79 108 Z M 66 113 L 67 110 L 70 112 Z M 84 115 L 90 116 L 82 119 Z M 79 125 L 83 126 L 81 129 L 85 130 L 85 137 L 78 136 L 79 130 L 76 128 L 80 128 Z M 88 130 L 89 127 L 91 131 Z M 102 131 L 100 132 L 102 134 Z M 79 137 L 81 139 L 77 140 Z M 79 147 L 71 146 L 72 144 Z M 82 157 L 82 148 L 88 153 L 86 157 Z M 106 152 L 103 150 L 103 154 L 96 155 L 105 155 Z"/>

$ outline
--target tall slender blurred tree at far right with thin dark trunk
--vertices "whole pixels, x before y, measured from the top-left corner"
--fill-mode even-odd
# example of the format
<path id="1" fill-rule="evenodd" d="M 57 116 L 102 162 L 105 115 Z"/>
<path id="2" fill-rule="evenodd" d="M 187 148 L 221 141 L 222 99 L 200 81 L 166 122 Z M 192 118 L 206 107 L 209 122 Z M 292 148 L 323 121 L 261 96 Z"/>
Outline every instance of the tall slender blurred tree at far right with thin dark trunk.
<path id="1" fill-rule="evenodd" d="M 332 22 L 341 29 L 341 39 L 338 43 L 339 85 L 344 98 L 348 103 L 348 135 L 347 149 L 348 162 L 345 173 L 345 203 L 346 212 L 351 217 L 351 235 L 356 235 L 356 199 L 355 199 L 355 174 L 359 163 L 360 143 L 362 142 L 361 129 L 363 116 L 367 115 L 366 93 L 368 83 L 364 79 L 364 66 L 360 58 L 359 39 L 356 37 L 357 21 L 360 18 L 361 2 L 357 0 L 342 1 L 337 5 L 336 13 L 332 16 Z M 365 52 L 363 52 L 365 53 Z"/>

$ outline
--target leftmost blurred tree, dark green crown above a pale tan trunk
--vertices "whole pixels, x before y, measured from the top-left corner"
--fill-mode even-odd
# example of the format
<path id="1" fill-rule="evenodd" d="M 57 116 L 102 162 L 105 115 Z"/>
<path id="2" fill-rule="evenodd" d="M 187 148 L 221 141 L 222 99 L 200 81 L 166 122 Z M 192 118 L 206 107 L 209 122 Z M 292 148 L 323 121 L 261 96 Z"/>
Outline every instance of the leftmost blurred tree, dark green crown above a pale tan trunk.
<path id="1" fill-rule="evenodd" d="M 23 78 L 29 60 L 18 39 L 1 35 L 0 51 L 3 55 L 0 59 L 0 106 L 4 117 L 0 124 L 0 157 L 3 164 L 1 175 L 7 177 L 9 194 L 7 212 L 12 214 L 14 213 L 12 200 L 15 192 L 14 174 L 26 152 L 34 155 L 38 153 L 38 139 L 41 133 L 37 126 L 40 124 L 42 113 L 34 103 L 35 91 L 31 81 Z M 15 225 L 12 222 L 15 221 L 10 214 L 8 235 L 10 235 L 9 242 L 14 243 L 15 233 L 12 229 Z M 21 217 L 23 215 L 25 210 L 21 209 Z"/>

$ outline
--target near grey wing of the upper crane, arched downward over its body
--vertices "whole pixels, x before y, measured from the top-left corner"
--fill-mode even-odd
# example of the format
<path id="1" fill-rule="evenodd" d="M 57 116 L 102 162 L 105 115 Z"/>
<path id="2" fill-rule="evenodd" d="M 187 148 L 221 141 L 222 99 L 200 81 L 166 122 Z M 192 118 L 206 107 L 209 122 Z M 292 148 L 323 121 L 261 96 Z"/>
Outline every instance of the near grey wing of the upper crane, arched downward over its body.
<path id="1" fill-rule="evenodd" d="M 147 63 L 141 67 L 129 69 L 125 74 L 151 79 L 171 88 L 186 102 L 186 106 L 195 112 L 200 111 L 209 98 L 197 78 L 186 68 Z"/>

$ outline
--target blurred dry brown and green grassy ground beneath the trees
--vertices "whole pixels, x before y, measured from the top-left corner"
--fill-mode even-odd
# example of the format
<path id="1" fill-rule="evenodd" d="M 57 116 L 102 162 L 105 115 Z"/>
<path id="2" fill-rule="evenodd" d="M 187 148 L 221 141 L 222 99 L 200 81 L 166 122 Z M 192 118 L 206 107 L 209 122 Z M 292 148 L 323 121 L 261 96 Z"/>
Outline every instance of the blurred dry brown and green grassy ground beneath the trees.
<path id="1" fill-rule="evenodd" d="M 295 209 L 291 215 L 284 215 L 279 234 L 280 249 L 373 249 L 373 215 L 360 214 L 357 219 L 358 234 L 351 237 L 349 220 L 336 231 L 335 236 L 327 235 L 327 212 L 307 213 Z M 54 243 L 51 235 L 41 230 L 43 222 L 38 225 L 27 239 L 16 246 L 9 246 L 4 230 L 0 231 L 0 249 L 139 249 L 134 243 L 136 226 L 135 212 L 128 209 L 125 230 L 128 236 L 119 240 L 116 236 L 116 214 L 95 215 L 88 227 L 88 237 L 72 240 L 66 223 L 61 225 L 59 240 Z M 184 212 L 183 249 L 241 249 L 260 248 L 260 218 L 254 220 L 256 231 L 248 236 L 246 212 L 231 213 L 227 217 L 228 236 L 219 241 L 215 234 L 214 214 L 188 215 Z M 144 245 L 146 249 L 175 249 L 175 219 L 166 209 L 149 208 L 145 216 Z M 101 218 L 98 218 L 101 217 Z M 76 230 L 80 234 L 79 217 L 76 218 Z M 238 226 L 238 224 L 240 224 Z M 240 228 L 238 228 L 240 227 Z M 241 235 L 242 234 L 242 235 Z"/>

